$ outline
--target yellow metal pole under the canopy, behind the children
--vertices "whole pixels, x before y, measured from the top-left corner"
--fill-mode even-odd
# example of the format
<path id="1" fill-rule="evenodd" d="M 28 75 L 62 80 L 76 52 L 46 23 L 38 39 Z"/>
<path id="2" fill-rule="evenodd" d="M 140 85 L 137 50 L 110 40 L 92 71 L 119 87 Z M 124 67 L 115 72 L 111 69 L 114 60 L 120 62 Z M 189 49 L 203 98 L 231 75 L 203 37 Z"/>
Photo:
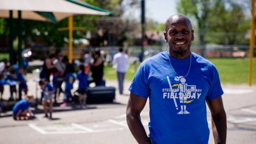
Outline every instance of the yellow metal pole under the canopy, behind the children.
<path id="1" fill-rule="evenodd" d="M 69 31 L 69 47 L 68 47 L 68 59 L 69 62 L 72 63 L 73 61 L 73 16 L 68 18 L 68 31 Z"/>

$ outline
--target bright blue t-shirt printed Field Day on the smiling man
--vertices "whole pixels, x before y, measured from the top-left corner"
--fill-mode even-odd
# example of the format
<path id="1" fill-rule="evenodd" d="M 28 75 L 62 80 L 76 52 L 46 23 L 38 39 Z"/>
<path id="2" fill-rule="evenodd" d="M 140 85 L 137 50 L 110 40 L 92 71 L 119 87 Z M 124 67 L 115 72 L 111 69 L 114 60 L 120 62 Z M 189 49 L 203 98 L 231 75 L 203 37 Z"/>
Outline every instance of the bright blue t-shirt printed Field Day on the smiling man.
<path id="1" fill-rule="evenodd" d="M 141 63 L 129 91 L 149 98 L 149 131 L 155 143 L 208 143 L 205 99 L 223 94 L 210 61 L 195 53 L 179 60 L 161 52 Z"/>

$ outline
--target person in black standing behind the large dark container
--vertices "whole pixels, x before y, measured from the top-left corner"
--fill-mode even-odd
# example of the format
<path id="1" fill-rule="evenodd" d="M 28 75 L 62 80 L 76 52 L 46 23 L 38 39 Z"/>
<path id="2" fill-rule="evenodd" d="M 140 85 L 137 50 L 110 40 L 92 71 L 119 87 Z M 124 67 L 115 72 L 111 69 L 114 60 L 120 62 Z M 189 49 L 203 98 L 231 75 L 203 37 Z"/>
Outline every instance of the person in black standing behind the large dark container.
<path id="1" fill-rule="evenodd" d="M 91 64 L 92 78 L 96 86 L 101 85 L 103 78 L 103 60 L 101 59 L 100 50 L 93 53 L 93 63 Z"/>

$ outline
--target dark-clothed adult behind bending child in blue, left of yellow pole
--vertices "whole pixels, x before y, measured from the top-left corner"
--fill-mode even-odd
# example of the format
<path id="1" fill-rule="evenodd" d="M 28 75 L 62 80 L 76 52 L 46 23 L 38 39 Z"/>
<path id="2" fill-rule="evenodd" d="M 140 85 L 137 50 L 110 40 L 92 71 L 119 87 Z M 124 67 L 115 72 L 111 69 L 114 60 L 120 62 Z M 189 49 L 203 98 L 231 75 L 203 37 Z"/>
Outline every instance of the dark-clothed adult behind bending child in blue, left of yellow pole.
<path id="1" fill-rule="evenodd" d="M 52 63 L 54 60 L 55 60 L 54 54 L 51 54 L 48 58 L 44 60 L 44 65 L 40 73 L 40 78 L 45 78 L 47 79 L 48 82 L 50 82 L 50 75 L 51 75 L 52 69 L 55 68 L 55 65 L 53 65 Z"/>

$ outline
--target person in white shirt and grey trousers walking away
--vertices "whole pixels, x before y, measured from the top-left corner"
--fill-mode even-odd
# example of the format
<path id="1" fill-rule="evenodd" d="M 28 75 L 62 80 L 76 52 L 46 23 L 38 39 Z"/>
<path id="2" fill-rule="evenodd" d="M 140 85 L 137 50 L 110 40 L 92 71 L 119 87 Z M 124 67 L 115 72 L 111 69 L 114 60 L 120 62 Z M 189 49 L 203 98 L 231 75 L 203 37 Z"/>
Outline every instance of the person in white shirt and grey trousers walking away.
<path id="1" fill-rule="evenodd" d="M 124 89 L 124 77 L 129 67 L 128 55 L 123 52 L 123 48 L 119 49 L 119 52 L 114 55 L 112 64 L 116 68 L 119 93 L 123 94 Z"/>

